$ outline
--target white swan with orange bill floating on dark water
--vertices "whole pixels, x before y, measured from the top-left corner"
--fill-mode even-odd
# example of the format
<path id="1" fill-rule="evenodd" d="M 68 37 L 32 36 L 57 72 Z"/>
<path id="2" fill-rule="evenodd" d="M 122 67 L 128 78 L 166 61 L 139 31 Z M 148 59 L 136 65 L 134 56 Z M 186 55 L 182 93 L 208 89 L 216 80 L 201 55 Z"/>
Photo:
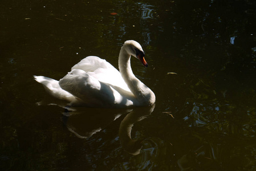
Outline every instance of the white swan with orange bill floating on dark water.
<path id="1" fill-rule="evenodd" d="M 125 108 L 152 105 L 155 94 L 132 72 L 130 58 L 135 56 L 145 67 L 140 44 L 127 40 L 119 53 L 119 71 L 97 56 L 87 56 L 71 68 L 59 82 L 44 76 L 34 76 L 50 95 L 86 107 Z"/>

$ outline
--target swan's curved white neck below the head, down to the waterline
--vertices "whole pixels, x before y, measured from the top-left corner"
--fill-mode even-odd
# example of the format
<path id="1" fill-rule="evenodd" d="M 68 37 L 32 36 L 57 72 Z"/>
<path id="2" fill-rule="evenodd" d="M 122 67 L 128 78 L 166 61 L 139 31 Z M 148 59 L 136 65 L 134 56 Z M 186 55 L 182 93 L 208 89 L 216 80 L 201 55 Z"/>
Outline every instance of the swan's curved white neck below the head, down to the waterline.
<path id="1" fill-rule="evenodd" d="M 155 103 L 155 94 L 133 74 L 130 59 L 131 55 L 122 47 L 119 54 L 120 74 L 136 97 L 137 105 L 152 105 Z"/>

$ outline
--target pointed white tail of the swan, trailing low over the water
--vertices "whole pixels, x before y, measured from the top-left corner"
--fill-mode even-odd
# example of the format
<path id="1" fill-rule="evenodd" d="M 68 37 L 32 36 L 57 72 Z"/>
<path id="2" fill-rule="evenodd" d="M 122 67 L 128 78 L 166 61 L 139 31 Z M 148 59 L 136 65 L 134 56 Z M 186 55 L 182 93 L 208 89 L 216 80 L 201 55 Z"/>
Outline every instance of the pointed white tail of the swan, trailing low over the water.
<path id="1" fill-rule="evenodd" d="M 71 103 L 77 103 L 79 99 L 72 95 L 71 93 L 65 91 L 59 86 L 59 82 L 57 80 L 48 78 L 46 76 L 35 76 L 34 78 L 36 82 L 43 84 L 43 87 L 46 89 L 46 91 L 54 96 L 57 99 L 60 100 L 66 100 Z"/>

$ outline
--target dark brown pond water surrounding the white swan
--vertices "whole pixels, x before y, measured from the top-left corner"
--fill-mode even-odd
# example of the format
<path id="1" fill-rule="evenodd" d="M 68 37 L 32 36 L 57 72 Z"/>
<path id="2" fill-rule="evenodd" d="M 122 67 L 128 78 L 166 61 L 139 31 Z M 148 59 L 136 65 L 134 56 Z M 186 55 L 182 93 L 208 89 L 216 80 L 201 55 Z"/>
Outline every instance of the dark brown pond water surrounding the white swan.
<path id="1" fill-rule="evenodd" d="M 1 170 L 256 169 L 255 1 L 0 6 Z M 36 105 L 55 99 L 32 75 L 59 80 L 88 55 L 117 67 L 128 39 L 146 53 L 149 67 L 132 68 L 155 108 Z"/>

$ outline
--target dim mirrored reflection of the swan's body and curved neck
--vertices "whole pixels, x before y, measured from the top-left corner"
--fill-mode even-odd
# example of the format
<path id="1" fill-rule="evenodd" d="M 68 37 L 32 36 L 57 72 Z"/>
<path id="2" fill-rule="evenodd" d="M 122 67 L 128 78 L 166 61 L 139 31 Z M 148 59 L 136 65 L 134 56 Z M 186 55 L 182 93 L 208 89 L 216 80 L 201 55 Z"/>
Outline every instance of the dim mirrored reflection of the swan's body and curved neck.
<path id="1" fill-rule="evenodd" d="M 133 124 L 151 115 L 154 108 L 155 104 L 150 107 L 130 109 L 79 108 L 76 111 L 64 112 L 63 123 L 77 137 L 87 139 L 95 133 L 100 132 L 121 115 L 127 114 L 121 120 L 119 126 L 119 140 L 126 152 L 137 155 L 140 153 L 143 140 L 145 139 L 132 139 L 131 132 Z M 72 108 L 72 110 L 74 109 Z"/>

